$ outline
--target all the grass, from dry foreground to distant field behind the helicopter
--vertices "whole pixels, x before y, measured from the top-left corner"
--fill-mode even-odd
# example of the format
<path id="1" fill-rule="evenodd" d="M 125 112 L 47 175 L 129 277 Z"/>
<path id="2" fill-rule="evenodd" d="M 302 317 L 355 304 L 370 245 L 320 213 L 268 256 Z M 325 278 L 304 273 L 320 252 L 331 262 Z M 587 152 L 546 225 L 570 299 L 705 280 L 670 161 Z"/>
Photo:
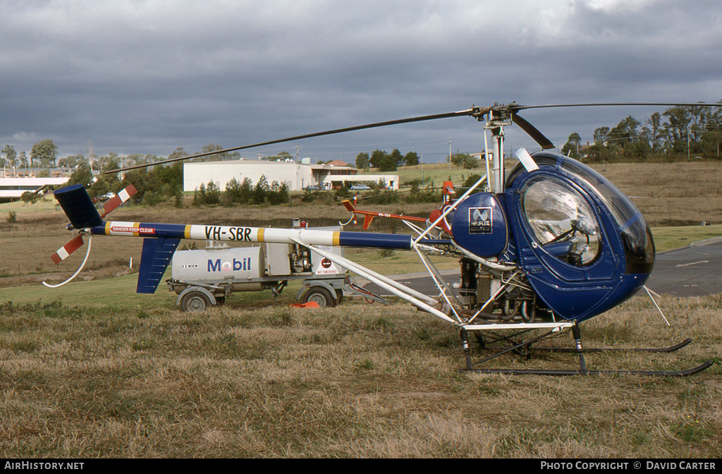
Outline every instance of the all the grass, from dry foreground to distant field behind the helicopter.
<path id="1" fill-rule="evenodd" d="M 720 236 L 722 204 L 713 181 L 722 167 L 656 166 L 606 165 L 604 173 L 638 196 L 656 223 L 658 251 Z M 680 187 L 675 176 L 690 173 L 697 181 Z M 646 204 L 645 196 L 651 197 Z M 658 199 L 667 207 L 652 205 Z M 413 212 L 423 215 L 427 207 Z M 4 219 L 9 212 L 16 212 L 15 222 Z M 291 217 L 312 225 L 348 219 L 334 202 L 243 210 L 126 207 L 113 215 L 228 225 L 282 225 Z M 695 220 L 713 225 L 661 225 Z M 373 230 L 388 230 L 379 221 Z M 50 290 L 40 281 L 63 280 L 82 259 L 57 268 L 49 262 L 69 239 L 64 225 L 53 203 L 0 205 L 0 457 L 722 455 L 720 295 L 663 296 L 658 303 L 671 327 L 645 296 L 582 325 L 587 347 L 694 340 L 671 354 L 591 354 L 590 369 L 680 369 L 716 361 L 703 374 L 464 374 L 458 332 L 406 303 L 350 300 L 331 309 L 296 309 L 290 306 L 295 283 L 275 300 L 270 292 L 239 293 L 226 306 L 187 314 L 175 309 L 175 294 L 165 288 L 137 295 L 129 260 L 138 261 L 141 239 L 95 238 L 90 270 L 77 283 Z M 387 274 L 421 270 L 409 252 L 380 257 L 349 250 L 347 256 Z M 565 334 L 553 342 L 573 341 Z M 475 359 L 482 357 L 477 345 L 473 350 Z M 576 364 L 563 353 L 495 362 L 528 369 Z"/>

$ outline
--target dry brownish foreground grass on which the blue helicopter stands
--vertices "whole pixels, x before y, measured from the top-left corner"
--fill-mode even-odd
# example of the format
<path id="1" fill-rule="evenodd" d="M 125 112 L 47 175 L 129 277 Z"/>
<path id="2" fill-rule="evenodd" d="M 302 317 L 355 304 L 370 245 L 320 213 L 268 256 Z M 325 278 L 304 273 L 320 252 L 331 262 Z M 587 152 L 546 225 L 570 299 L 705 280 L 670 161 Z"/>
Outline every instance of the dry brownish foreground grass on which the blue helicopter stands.
<path id="1" fill-rule="evenodd" d="M 634 299 L 586 324 L 594 368 L 720 354 L 719 298 Z M 204 314 L 4 305 L 3 457 L 719 457 L 720 366 L 687 379 L 459 374 L 451 327 L 407 305 Z M 560 342 L 570 342 L 565 337 Z M 574 366 L 572 355 L 500 364 Z"/>

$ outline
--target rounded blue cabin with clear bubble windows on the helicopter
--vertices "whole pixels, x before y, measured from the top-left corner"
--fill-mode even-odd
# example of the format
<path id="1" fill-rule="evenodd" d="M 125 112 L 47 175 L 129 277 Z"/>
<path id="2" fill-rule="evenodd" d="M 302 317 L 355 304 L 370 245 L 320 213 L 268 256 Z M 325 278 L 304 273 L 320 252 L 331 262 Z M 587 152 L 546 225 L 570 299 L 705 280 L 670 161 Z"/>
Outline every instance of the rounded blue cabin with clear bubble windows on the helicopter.
<path id="1" fill-rule="evenodd" d="M 604 176 L 552 152 L 514 168 L 505 202 L 518 264 L 565 319 L 596 316 L 642 288 L 654 243 L 641 212 Z"/>

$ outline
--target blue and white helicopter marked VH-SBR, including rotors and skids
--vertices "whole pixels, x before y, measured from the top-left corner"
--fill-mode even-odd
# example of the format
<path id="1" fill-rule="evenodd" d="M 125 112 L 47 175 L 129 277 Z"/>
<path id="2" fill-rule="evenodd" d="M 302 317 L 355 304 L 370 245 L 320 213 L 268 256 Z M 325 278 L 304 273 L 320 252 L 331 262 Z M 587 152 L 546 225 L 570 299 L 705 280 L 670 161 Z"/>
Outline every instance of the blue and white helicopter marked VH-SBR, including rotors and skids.
<path id="1" fill-rule="evenodd" d="M 580 105 L 705 104 L 574 106 Z M 71 254 L 82 245 L 82 236 L 142 237 L 144 244 L 137 291 L 154 293 L 183 238 L 299 244 L 458 329 L 466 358 L 464 370 L 504 374 L 687 376 L 707 369 L 712 361 L 679 371 L 593 371 L 587 368 L 584 353 L 592 350 L 583 348 L 580 323 L 614 308 L 643 290 L 652 271 L 655 249 L 643 215 L 622 191 L 587 165 L 549 151 L 554 148 L 552 142 L 518 115 L 526 108 L 562 106 L 569 105 L 510 103 L 484 108 L 472 106 L 464 111 L 334 129 L 153 163 L 170 163 L 220 152 L 439 118 L 471 116 L 483 121 L 484 146 L 487 148 L 486 175 L 460 198 L 447 202 L 435 218 L 427 221 L 425 228 L 411 225 L 414 235 L 105 221 L 103 217 L 110 210 L 128 199 L 129 191 L 122 191 L 108 202 L 101 216 L 82 186 L 76 185 L 55 191 L 56 199 L 69 217 L 69 228 L 79 236 L 58 250 L 53 258 L 59 261 Z M 526 150 L 518 150 L 518 163 L 506 171 L 504 128 L 512 124 L 520 126 L 534 138 L 541 151 L 530 155 Z M 491 147 L 486 131 L 491 133 Z M 108 173 L 143 166 L 147 165 Z M 435 281 L 438 296 L 419 293 L 324 249 L 327 246 L 415 251 Z M 460 283 L 455 288 L 445 282 L 429 259 L 430 254 L 458 259 Z M 575 347 L 567 351 L 578 354 L 578 369 L 474 367 L 510 351 L 539 350 L 541 348 L 535 347 L 538 342 L 557 336 L 562 330 L 570 330 L 573 334 Z M 474 363 L 469 334 L 476 335 L 482 347 L 489 342 L 506 342 L 507 345 Z M 499 334 L 511 334 L 513 337 Z M 534 337 L 519 339 L 526 334 Z M 671 352 L 689 342 L 685 340 L 669 348 L 637 350 Z"/>

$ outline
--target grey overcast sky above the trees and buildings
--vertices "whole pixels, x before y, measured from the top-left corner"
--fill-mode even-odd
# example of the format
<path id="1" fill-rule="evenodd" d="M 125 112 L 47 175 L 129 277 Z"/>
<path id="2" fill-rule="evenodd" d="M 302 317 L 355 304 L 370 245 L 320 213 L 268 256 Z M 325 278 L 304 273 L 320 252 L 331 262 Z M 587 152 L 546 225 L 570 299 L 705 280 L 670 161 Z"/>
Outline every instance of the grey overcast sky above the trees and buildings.
<path id="1" fill-rule="evenodd" d="M 718 0 L 3 0 L 0 147 L 167 156 L 475 105 L 722 100 Z M 521 115 L 572 132 L 665 108 Z M 537 150 L 518 127 L 508 145 Z M 483 150 L 473 118 L 306 139 L 353 162 Z"/>

